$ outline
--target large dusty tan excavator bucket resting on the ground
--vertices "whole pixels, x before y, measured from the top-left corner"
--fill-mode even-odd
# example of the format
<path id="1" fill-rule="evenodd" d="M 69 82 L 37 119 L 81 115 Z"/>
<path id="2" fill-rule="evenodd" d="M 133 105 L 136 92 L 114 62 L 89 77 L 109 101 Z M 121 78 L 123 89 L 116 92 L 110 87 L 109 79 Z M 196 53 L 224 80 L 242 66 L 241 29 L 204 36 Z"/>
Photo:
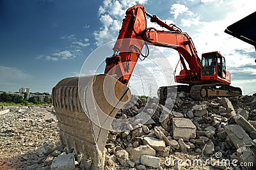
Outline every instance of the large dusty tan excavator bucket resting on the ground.
<path id="1" fill-rule="evenodd" d="M 110 75 L 61 80 L 52 101 L 63 147 L 92 161 L 90 169 L 104 169 L 104 148 L 116 113 L 129 102 L 131 91 Z"/>

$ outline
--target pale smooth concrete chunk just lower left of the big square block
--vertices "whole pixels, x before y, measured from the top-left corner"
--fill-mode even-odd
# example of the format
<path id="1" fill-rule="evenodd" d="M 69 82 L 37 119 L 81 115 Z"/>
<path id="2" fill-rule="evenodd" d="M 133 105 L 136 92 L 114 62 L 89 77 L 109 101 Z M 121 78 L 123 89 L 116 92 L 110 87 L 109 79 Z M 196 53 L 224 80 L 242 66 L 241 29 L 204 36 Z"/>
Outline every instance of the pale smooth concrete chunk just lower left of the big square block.
<path id="1" fill-rule="evenodd" d="M 165 143 L 161 139 L 157 139 L 155 137 L 143 137 L 143 144 L 148 144 L 151 146 L 154 150 L 157 151 L 164 151 L 165 149 Z"/>

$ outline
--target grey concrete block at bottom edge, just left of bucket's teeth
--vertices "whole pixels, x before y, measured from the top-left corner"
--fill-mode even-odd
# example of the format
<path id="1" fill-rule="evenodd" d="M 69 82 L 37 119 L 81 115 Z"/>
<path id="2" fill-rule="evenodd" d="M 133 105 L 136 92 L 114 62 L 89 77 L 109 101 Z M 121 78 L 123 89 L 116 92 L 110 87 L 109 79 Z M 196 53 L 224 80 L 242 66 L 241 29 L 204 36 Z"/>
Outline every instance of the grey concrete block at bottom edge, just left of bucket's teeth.
<path id="1" fill-rule="evenodd" d="M 68 153 L 60 155 L 52 160 L 51 170 L 75 169 L 75 155 Z"/>

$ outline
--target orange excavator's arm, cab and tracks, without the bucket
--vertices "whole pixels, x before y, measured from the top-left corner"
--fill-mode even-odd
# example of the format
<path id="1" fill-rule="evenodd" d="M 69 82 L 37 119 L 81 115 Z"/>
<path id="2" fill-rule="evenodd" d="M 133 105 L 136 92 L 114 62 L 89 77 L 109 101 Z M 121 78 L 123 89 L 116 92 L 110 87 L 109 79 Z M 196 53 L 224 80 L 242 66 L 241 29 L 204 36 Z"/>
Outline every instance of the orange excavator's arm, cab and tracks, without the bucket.
<path id="1" fill-rule="evenodd" d="M 168 31 L 148 28 L 146 15 L 150 17 L 151 22 L 156 22 Z M 127 38 L 129 40 L 123 43 L 124 39 Z M 192 98 L 200 100 L 214 96 L 241 95 L 240 88 L 229 86 L 230 72 L 227 71 L 225 58 L 221 56 L 220 52 L 204 53 L 201 61 L 197 56 L 195 45 L 187 33 L 182 32 L 179 27 L 173 24 L 164 23 L 156 15 L 150 15 L 141 5 L 132 6 L 127 10 L 122 28 L 113 47 L 114 54 L 111 58 L 106 59 L 104 73 L 117 75 L 118 80 L 127 85 L 134 66 L 140 58 L 141 50 L 147 45 L 172 48 L 179 52 L 183 69 L 179 75 L 175 76 L 175 82 L 189 84 L 189 86 L 176 86 L 176 88 L 179 91 L 190 92 Z M 189 68 L 187 68 L 185 61 Z M 112 69 L 113 67 L 115 69 Z M 164 102 L 168 88 L 170 89 L 172 86 L 159 88 L 161 102 Z"/>

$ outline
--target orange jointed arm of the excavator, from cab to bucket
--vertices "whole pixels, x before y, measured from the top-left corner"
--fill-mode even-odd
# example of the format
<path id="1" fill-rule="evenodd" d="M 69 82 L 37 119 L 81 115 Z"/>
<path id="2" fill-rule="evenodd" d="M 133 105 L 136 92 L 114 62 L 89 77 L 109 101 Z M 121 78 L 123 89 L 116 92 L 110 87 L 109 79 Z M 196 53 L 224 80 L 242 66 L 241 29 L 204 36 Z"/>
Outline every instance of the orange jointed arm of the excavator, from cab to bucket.
<path id="1" fill-rule="evenodd" d="M 151 22 L 156 22 L 159 26 L 168 31 L 159 31 L 155 28 L 147 28 L 146 16 L 150 17 Z M 138 58 L 148 56 L 148 45 L 168 47 L 179 52 L 180 62 L 184 68 L 180 73 L 177 82 L 200 81 L 200 58 L 193 41 L 187 33 L 175 25 L 168 25 L 158 19 L 156 15 L 146 12 L 144 6 L 137 4 L 129 8 L 126 12 L 122 28 L 113 47 L 114 54 L 106 59 L 105 72 L 109 75 L 116 75 L 118 80 L 127 85 L 131 78 L 132 71 Z M 146 46 L 147 54 L 141 54 L 141 50 Z M 186 67 L 184 59 L 187 61 L 189 69 Z"/>

